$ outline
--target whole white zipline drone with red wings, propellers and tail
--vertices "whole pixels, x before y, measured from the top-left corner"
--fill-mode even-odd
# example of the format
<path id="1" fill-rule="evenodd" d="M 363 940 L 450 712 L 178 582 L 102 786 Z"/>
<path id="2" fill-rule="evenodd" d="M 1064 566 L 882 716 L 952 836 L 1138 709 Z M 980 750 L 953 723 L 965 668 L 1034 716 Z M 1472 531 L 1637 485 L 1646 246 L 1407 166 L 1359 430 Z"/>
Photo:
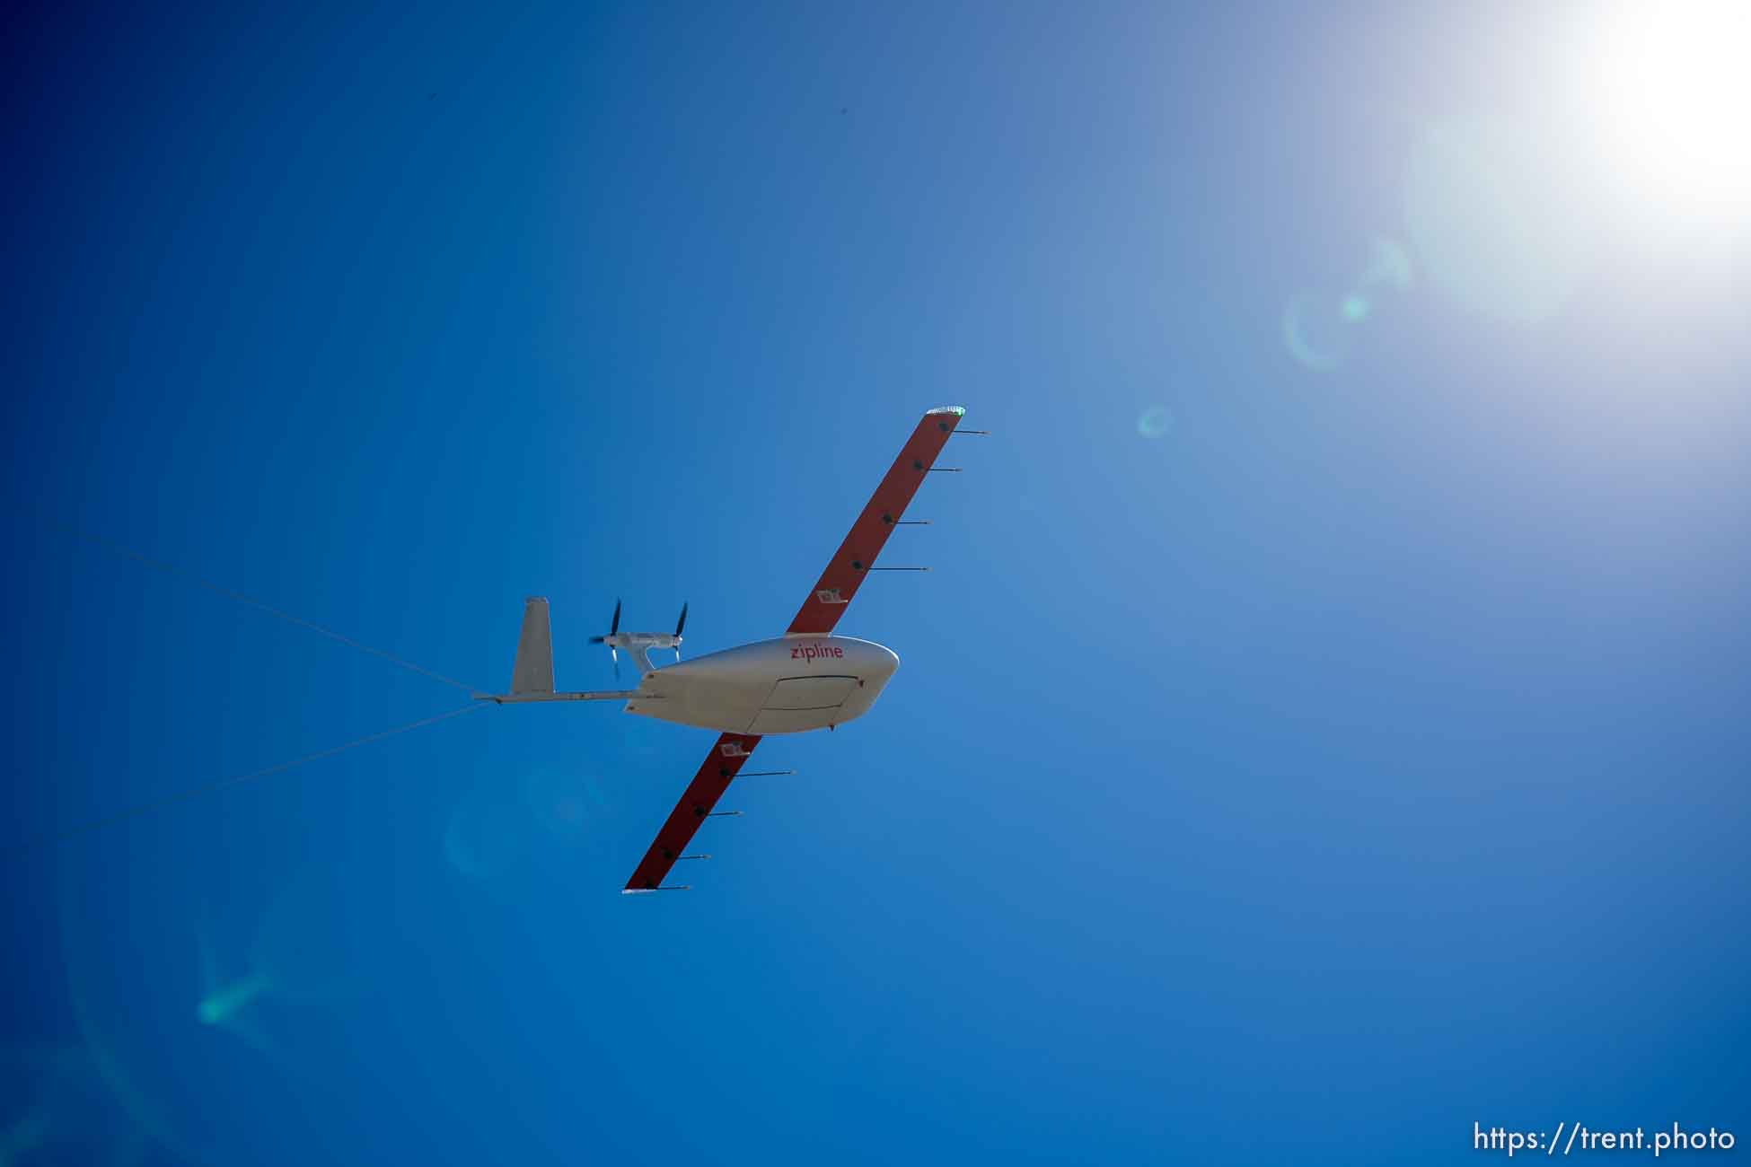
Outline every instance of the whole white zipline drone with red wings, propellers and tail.
<path id="1" fill-rule="evenodd" d="M 944 406 L 932 409 L 918 422 L 918 429 L 900 450 L 900 457 L 883 476 L 868 506 L 851 525 L 851 534 L 839 544 L 839 551 L 821 572 L 783 637 L 742 644 L 683 663 L 685 604 L 674 632 L 665 633 L 620 632 L 620 604 L 616 602 L 608 633 L 590 637 L 590 642 L 608 646 L 616 675 L 620 672 L 620 649 L 625 649 L 639 670 L 639 686 L 602 693 L 555 693 L 548 602 L 531 598 L 524 604 L 524 628 L 517 639 L 511 691 L 476 693 L 478 700 L 499 705 L 513 702 L 625 702 L 623 712 L 629 714 L 721 733 L 699 766 L 699 773 L 693 775 L 693 782 L 681 794 L 669 821 L 657 831 L 657 842 L 644 852 L 644 859 L 627 880 L 622 894 L 685 891 L 685 884 L 665 887 L 664 878 L 678 859 L 704 857 L 686 856 L 683 850 L 707 817 L 737 814 L 714 812 L 713 808 L 762 737 L 832 730 L 867 714 L 876 698 L 881 696 L 888 677 L 900 667 L 900 658 L 872 640 L 835 637 L 833 626 L 868 572 L 926 570 L 876 567 L 876 556 L 888 542 L 888 534 L 907 523 L 902 518 L 907 504 L 918 493 L 925 474 L 937 471 L 937 455 L 942 453 L 942 446 L 956 432 L 965 413 L 960 406 Z M 982 434 L 984 430 L 960 432 Z M 942 467 L 939 472 L 953 472 L 953 469 Z M 650 661 L 651 649 L 674 649 L 676 663 L 653 665 Z"/>

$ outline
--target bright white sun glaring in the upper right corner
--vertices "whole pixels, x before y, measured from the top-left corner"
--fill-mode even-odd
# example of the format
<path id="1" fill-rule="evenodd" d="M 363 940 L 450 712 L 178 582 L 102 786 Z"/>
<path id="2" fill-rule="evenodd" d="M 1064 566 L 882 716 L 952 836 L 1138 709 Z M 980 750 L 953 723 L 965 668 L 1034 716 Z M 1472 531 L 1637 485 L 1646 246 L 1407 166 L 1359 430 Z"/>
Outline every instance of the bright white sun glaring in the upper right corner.
<path id="1" fill-rule="evenodd" d="M 1751 0 L 1583 5 L 1579 70 L 1637 201 L 1751 222 Z"/>

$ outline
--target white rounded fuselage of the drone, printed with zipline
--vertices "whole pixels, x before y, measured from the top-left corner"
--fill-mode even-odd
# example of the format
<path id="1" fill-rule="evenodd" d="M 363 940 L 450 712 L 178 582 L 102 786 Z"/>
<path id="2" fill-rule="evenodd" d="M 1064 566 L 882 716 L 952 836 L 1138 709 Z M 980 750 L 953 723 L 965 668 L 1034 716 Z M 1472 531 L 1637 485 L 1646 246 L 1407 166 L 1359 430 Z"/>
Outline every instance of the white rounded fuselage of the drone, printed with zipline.
<path id="1" fill-rule="evenodd" d="M 900 658 L 854 637 L 779 637 L 653 668 L 625 712 L 721 733 L 802 733 L 861 717 Z"/>

